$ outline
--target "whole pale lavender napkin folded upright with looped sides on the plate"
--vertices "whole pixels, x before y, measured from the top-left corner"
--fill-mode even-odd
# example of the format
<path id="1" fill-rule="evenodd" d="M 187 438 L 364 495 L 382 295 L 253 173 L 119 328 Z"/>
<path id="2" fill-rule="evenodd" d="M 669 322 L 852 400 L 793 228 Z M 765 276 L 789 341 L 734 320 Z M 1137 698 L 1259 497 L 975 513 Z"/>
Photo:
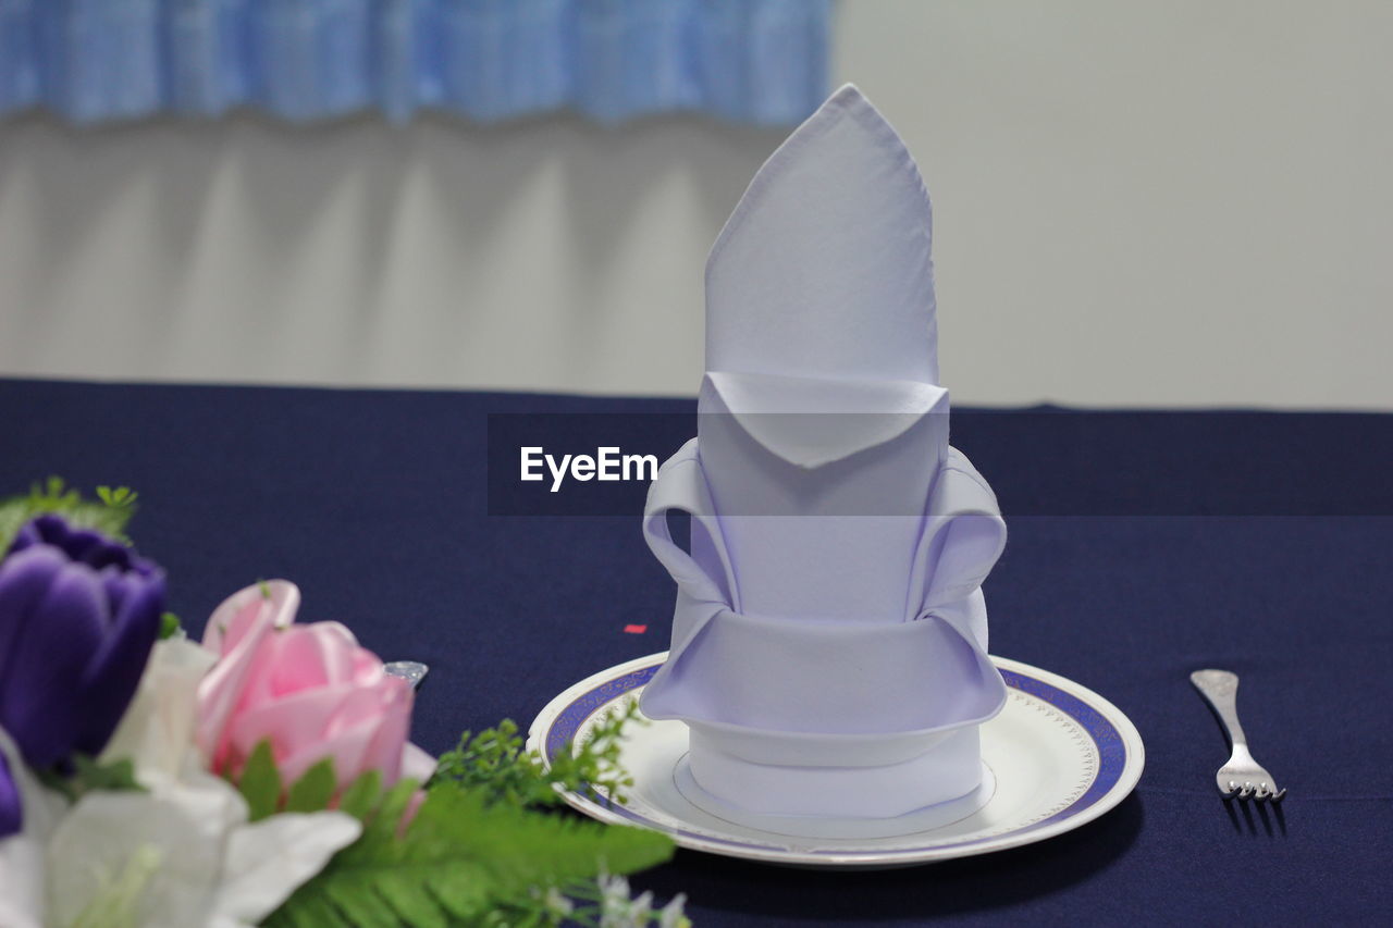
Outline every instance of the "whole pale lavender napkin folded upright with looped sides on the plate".
<path id="1" fill-rule="evenodd" d="M 712 248 L 698 436 L 645 509 L 677 605 L 642 708 L 688 725 L 726 808 L 890 818 L 981 782 L 976 726 L 1006 699 L 981 585 L 1006 525 L 949 446 L 931 242 L 914 160 L 848 85 Z"/>

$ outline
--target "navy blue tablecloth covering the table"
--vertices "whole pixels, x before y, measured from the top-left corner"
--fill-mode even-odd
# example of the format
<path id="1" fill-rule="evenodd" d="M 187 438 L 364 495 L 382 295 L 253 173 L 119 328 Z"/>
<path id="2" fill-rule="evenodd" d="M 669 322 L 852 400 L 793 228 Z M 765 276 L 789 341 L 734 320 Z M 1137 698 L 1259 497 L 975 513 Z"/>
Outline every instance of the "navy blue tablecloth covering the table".
<path id="1" fill-rule="evenodd" d="M 666 648 L 673 588 L 637 504 L 489 514 L 490 414 L 599 412 L 648 417 L 645 451 L 695 428 L 683 400 L 0 380 L 0 493 L 47 474 L 138 489 L 132 535 L 192 631 L 242 585 L 294 580 L 304 620 L 432 665 L 415 738 L 442 751 Z M 637 885 L 687 892 L 699 925 L 1387 918 L 1393 415 L 958 411 L 953 433 L 1011 532 L 992 651 L 1120 706 L 1146 743 L 1138 790 L 979 858 L 837 874 L 680 851 Z M 1277 811 L 1213 791 L 1202 666 L 1243 677 Z"/>

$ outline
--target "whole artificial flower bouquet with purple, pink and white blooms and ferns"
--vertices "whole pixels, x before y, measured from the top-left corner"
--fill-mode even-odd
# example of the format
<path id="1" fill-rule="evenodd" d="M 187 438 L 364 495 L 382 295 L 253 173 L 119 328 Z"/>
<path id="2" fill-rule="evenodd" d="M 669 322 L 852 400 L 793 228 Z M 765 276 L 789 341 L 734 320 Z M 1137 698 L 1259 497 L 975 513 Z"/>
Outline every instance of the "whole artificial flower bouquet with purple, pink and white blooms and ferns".
<path id="1" fill-rule="evenodd" d="M 687 924 L 623 876 L 666 836 L 549 811 L 620 794 L 632 709 L 549 769 L 510 722 L 436 761 L 411 684 L 288 581 L 185 637 L 135 495 L 98 496 L 0 503 L 0 925 Z"/>

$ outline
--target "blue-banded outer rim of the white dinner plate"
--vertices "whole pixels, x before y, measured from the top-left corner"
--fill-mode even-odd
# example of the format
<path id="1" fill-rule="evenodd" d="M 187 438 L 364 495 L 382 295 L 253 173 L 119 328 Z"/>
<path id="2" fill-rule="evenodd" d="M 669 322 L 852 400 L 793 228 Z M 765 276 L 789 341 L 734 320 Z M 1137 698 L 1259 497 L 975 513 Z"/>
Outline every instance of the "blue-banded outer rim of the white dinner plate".
<path id="1" fill-rule="evenodd" d="M 624 694 L 644 687 L 653 677 L 653 674 L 657 673 L 657 669 L 662 666 L 666 656 L 666 654 L 657 654 L 630 662 L 630 666 L 641 662 L 642 666 L 603 680 L 598 686 L 571 697 L 560 712 L 556 713 L 550 725 L 545 727 L 545 730 L 540 733 L 534 732 L 536 741 L 542 748 L 543 759 L 550 764 L 553 757 L 566 750 L 568 744 L 574 743 L 577 736 L 581 733 L 581 729 L 598 711 L 603 709 Z M 997 663 L 1002 677 L 1006 680 L 1006 686 L 1009 688 L 1018 690 L 1028 697 L 1049 704 L 1087 732 L 1089 738 L 1092 738 L 1094 748 L 1098 752 L 1096 773 L 1087 790 L 1084 790 L 1067 807 L 1056 811 L 1055 814 L 1014 829 L 1009 836 L 995 835 L 988 837 L 972 837 L 957 843 L 935 843 L 932 846 L 935 858 L 972 854 L 975 853 L 974 849 L 996 850 L 997 847 L 1014 847 L 1048 836 L 1041 835 L 1041 832 L 1057 833 L 1060 830 L 1066 830 L 1067 826 L 1092 821 L 1120 803 L 1141 778 L 1141 738 L 1137 734 L 1135 727 L 1131 726 L 1130 720 L 1127 720 L 1127 718 L 1121 715 L 1116 706 L 1098 694 L 1094 694 L 1070 680 L 1059 677 L 1057 674 L 1014 660 L 1004 660 L 1000 658 L 993 658 L 993 660 Z M 616 670 L 617 669 L 618 667 L 616 667 Z M 1089 699 L 1075 695 L 1075 693 L 1063 688 L 1060 684 L 1066 684 L 1071 690 L 1087 694 Z M 1099 705 L 1103 706 L 1113 718 L 1105 715 L 1105 711 L 1100 711 Z M 1114 719 L 1124 723 L 1128 732 L 1121 732 Z M 1123 782 L 1124 778 L 1127 780 L 1126 783 Z M 756 854 L 780 853 L 787 850 L 786 847 L 775 844 L 733 840 L 716 837 L 709 833 L 695 833 L 681 828 L 673 828 L 670 825 L 655 822 L 631 808 L 610 803 L 606 797 L 595 793 L 588 791 L 582 798 L 588 803 L 599 805 L 610 815 L 624 818 L 635 825 L 662 830 L 677 839 L 688 839 L 690 842 L 699 844 L 723 844 L 736 850 L 737 854 L 741 850 L 754 851 Z M 1100 804 L 1102 807 L 1099 807 Z M 1070 822 L 1070 825 L 1061 828 L 1066 822 Z M 1007 837 L 1009 840 L 1003 842 L 1003 837 Z M 678 843 L 687 842 L 680 840 Z M 981 847 L 985 844 L 992 844 L 993 847 Z M 887 854 L 885 850 L 861 851 L 846 849 L 839 850 L 836 857 L 840 861 L 854 861 L 858 858 L 866 858 L 869 861 L 871 858 L 885 860 L 887 857 L 903 857 L 904 854 L 912 854 L 914 851 L 915 849 L 901 849 Z"/>

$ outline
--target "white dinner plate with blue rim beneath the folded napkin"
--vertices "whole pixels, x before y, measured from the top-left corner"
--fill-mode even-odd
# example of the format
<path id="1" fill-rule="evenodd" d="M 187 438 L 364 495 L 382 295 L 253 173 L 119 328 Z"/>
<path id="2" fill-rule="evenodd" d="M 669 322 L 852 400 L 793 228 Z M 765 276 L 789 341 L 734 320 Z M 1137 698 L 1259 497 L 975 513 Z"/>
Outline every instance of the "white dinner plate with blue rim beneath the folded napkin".
<path id="1" fill-rule="evenodd" d="M 557 695 L 532 722 L 528 747 L 546 762 L 585 738 L 595 722 L 642 691 L 666 652 L 602 670 Z M 717 818 L 684 796 L 687 726 L 631 725 L 620 762 L 634 778 L 627 804 L 595 791 L 566 801 L 602 822 L 641 825 L 681 847 L 797 867 L 907 867 L 1020 847 L 1094 821 L 1141 778 L 1137 727 L 1096 693 L 1017 660 L 992 658 L 1006 677 L 1006 708 L 982 726 L 982 762 L 995 779 L 965 818 L 893 837 L 805 837 Z M 690 789 L 690 784 L 688 784 Z M 947 817 L 954 818 L 954 817 Z"/>

